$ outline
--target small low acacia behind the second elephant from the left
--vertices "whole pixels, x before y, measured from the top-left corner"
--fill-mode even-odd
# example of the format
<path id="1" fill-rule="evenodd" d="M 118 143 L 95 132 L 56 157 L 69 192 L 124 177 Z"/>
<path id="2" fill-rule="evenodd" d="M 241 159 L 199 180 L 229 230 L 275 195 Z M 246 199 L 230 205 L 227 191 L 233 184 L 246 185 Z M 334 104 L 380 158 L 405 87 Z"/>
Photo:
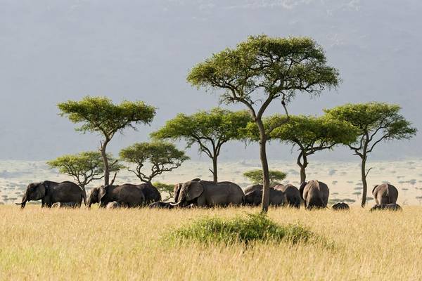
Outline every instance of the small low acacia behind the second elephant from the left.
<path id="1" fill-rule="evenodd" d="M 152 143 L 135 143 L 120 150 L 120 158 L 129 164 L 135 164 L 132 171 L 144 183 L 151 183 L 151 180 L 165 171 L 177 169 L 187 157 L 183 151 L 178 150 L 172 143 L 155 141 Z M 151 174 L 143 171 L 145 164 L 151 164 Z"/>

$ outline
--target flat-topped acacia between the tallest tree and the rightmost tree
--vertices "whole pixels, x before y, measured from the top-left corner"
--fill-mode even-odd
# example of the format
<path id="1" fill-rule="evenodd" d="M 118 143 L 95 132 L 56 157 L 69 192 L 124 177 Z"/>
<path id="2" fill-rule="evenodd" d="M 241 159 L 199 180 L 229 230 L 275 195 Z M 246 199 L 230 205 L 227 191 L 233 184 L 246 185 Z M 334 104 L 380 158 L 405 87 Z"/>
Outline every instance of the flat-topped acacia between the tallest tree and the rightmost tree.
<path id="1" fill-rule="evenodd" d="M 338 144 L 350 144 L 356 140 L 354 127 L 326 116 L 286 116 L 274 115 L 264 119 L 269 128 L 269 138 L 298 147 L 300 183 L 306 181 L 308 157 L 317 151 L 332 149 Z"/>

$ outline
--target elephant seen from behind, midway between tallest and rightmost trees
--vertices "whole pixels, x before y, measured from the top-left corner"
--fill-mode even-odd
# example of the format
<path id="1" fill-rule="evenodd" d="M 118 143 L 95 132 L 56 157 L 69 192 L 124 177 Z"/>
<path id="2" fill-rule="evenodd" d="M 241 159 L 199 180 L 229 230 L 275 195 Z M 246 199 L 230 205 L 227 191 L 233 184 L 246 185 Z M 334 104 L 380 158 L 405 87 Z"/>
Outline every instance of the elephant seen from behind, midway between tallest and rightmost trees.
<path id="1" fill-rule="evenodd" d="M 322 181 L 304 181 L 299 188 L 305 209 L 326 208 L 330 190 Z"/>

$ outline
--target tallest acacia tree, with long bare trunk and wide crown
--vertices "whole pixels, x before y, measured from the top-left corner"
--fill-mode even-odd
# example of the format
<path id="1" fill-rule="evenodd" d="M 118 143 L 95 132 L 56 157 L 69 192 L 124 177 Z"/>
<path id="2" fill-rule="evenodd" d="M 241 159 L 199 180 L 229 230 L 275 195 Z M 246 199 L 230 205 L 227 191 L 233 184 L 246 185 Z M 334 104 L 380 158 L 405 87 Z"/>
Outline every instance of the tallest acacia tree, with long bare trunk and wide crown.
<path id="1" fill-rule="evenodd" d="M 338 71 L 328 66 L 321 46 L 306 37 L 271 38 L 266 35 L 249 37 L 236 48 L 215 53 L 198 63 L 187 77 L 193 86 L 223 89 L 224 103 L 245 105 L 260 131 L 262 163 L 262 211 L 269 207 L 269 167 L 267 133 L 262 117 L 267 107 L 281 100 L 286 115 L 288 103 L 296 93 L 312 96 L 339 83 Z"/>

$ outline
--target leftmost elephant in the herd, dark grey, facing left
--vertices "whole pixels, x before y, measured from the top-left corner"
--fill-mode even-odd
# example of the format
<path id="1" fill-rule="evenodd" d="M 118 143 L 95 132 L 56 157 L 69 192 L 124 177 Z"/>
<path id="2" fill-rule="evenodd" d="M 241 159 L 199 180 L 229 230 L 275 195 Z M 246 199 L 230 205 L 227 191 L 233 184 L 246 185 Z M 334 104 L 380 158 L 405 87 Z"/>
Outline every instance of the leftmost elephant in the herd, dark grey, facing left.
<path id="1" fill-rule="evenodd" d="M 30 183 L 22 197 L 20 205 L 25 208 L 28 201 L 41 200 L 41 207 L 51 207 L 54 203 L 75 202 L 77 207 L 81 207 L 82 200 L 87 205 L 87 193 L 76 183 L 63 181 L 56 183 L 53 181 L 43 181 L 41 183 Z"/>

